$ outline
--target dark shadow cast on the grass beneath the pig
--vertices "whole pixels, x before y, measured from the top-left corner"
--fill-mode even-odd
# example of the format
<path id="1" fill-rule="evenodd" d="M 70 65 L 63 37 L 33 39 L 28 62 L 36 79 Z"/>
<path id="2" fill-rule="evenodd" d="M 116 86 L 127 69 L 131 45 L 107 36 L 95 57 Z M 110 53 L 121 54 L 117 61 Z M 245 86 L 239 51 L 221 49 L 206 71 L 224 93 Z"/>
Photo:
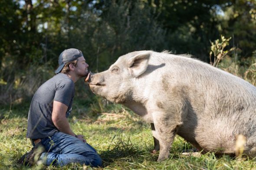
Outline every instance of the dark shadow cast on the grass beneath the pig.
<path id="1" fill-rule="evenodd" d="M 130 138 L 128 139 L 121 139 L 119 138 L 117 142 L 113 143 L 116 136 L 112 138 L 111 144 L 108 146 L 108 148 L 105 151 L 99 151 L 100 157 L 103 160 L 103 167 L 111 166 L 112 164 L 122 164 L 124 165 L 124 162 L 132 163 L 132 164 L 142 164 L 145 160 L 151 161 L 153 164 L 157 164 L 156 160 L 159 155 L 159 151 L 155 154 L 152 154 L 151 147 L 146 148 L 138 148 L 137 144 L 132 144 Z M 152 146 L 153 147 L 153 146 Z M 186 147 L 185 147 L 186 148 Z M 182 155 L 182 150 L 184 149 L 184 146 L 177 146 L 173 151 L 170 152 L 170 157 L 167 160 L 164 160 L 164 162 L 173 162 L 175 161 L 202 161 L 203 159 L 210 159 L 210 160 L 233 160 L 233 157 L 230 155 L 215 155 L 214 153 L 207 153 L 203 154 L 202 156 L 185 156 Z M 191 151 L 193 151 L 193 147 Z M 194 151 L 196 151 L 194 149 Z M 160 163 L 159 163 L 160 164 Z"/>

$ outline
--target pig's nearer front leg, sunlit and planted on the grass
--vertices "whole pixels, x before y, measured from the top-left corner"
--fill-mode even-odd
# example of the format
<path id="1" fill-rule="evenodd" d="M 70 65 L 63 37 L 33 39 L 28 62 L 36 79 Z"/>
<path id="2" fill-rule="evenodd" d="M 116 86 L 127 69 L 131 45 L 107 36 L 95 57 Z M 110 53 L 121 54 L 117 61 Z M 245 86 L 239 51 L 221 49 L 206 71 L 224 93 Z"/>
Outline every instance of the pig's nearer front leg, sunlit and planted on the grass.
<path id="1" fill-rule="evenodd" d="M 169 151 L 178 127 L 178 124 L 172 120 L 174 119 L 172 119 L 171 116 L 167 118 L 163 112 L 155 114 L 154 127 L 158 134 L 158 141 L 160 144 L 158 162 L 167 159 L 170 155 Z"/>

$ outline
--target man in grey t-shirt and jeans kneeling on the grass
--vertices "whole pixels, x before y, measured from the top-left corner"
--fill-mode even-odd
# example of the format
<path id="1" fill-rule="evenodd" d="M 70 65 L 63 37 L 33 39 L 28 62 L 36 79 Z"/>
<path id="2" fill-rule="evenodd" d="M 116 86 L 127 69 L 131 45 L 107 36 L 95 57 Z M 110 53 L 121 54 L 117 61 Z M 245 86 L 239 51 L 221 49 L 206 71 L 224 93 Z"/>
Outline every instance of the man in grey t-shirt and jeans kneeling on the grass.
<path id="1" fill-rule="evenodd" d="M 33 96 L 26 137 L 31 139 L 34 147 L 18 163 L 31 166 L 42 160 L 47 166 L 102 165 L 95 149 L 86 143 L 83 135 L 76 135 L 71 130 L 67 120 L 72 109 L 74 83 L 89 76 L 88 67 L 78 49 L 70 48 L 59 55 L 56 75 L 43 83 Z"/>

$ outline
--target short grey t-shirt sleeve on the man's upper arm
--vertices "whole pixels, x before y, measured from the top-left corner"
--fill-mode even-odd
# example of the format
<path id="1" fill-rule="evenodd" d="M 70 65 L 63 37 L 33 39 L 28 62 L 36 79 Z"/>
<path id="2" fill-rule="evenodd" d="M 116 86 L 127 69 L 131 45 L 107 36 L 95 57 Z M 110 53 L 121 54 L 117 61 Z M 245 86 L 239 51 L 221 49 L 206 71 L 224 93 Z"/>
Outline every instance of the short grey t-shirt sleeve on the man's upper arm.
<path id="1" fill-rule="evenodd" d="M 54 101 L 64 103 L 69 107 L 74 94 L 74 82 L 71 79 L 62 79 L 56 85 Z"/>

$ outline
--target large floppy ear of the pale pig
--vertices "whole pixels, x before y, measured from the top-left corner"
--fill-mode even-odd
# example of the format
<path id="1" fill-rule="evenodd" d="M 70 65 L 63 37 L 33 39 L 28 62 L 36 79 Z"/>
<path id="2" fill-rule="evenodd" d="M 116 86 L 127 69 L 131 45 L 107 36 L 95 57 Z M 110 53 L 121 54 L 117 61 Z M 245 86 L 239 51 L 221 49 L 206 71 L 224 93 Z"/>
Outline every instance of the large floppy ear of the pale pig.
<path id="1" fill-rule="evenodd" d="M 145 52 L 129 58 L 128 70 L 133 77 L 138 77 L 147 70 L 150 55 L 151 52 Z"/>

